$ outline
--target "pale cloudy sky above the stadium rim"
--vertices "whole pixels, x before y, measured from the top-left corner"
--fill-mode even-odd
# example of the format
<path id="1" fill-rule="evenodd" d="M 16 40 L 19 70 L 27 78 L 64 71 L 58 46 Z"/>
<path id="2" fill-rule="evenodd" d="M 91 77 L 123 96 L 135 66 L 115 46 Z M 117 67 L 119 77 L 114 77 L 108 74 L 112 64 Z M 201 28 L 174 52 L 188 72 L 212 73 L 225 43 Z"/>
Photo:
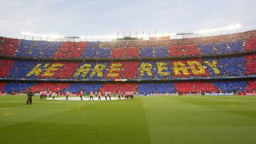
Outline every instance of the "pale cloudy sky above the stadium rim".
<path id="1" fill-rule="evenodd" d="M 245 31 L 256 28 L 255 7 L 255 0 L 1 0 L 0 33 L 180 33 L 236 23 Z"/>

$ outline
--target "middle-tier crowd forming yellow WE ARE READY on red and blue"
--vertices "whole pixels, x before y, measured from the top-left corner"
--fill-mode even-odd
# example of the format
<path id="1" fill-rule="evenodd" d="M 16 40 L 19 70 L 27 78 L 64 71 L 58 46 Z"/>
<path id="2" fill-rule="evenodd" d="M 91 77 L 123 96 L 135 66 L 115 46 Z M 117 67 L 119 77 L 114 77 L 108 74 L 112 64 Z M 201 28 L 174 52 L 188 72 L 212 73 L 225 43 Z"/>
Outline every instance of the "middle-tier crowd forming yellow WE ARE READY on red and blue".
<path id="1" fill-rule="evenodd" d="M 256 74 L 256 55 L 114 62 L 0 60 L 0 78 L 14 79 L 173 79 L 240 77 Z"/>

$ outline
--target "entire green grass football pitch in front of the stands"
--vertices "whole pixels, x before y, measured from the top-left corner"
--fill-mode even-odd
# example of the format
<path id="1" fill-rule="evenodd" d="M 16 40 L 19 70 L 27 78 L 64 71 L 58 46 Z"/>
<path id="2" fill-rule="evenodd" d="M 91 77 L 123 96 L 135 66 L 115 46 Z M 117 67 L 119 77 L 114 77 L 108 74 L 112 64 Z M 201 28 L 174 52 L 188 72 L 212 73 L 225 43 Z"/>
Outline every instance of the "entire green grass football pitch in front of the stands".
<path id="1" fill-rule="evenodd" d="M 256 143 L 256 96 L 0 96 L 0 143 Z"/>

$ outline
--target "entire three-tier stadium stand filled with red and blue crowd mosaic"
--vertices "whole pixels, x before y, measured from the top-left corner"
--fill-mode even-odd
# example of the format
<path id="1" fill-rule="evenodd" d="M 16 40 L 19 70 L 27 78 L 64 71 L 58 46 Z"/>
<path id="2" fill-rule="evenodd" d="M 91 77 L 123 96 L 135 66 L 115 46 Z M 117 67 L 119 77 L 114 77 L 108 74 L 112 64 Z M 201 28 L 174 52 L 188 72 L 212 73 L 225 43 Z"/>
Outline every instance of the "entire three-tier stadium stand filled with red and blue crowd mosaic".
<path id="1" fill-rule="evenodd" d="M 0 37 L 0 92 L 255 92 L 255 37 L 255 31 L 114 42 Z"/>

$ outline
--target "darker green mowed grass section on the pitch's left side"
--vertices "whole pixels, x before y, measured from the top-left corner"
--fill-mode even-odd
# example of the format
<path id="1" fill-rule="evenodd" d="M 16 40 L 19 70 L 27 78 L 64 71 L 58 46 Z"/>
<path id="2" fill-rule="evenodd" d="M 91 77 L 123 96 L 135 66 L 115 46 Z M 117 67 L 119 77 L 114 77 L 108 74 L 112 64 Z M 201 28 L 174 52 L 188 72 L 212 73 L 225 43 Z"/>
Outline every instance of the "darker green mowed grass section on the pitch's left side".
<path id="1" fill-rule="evenodd" d="M 141 99 L 63 101 L 23 110 L 5 119 L 17 123 L 0 128 L 0 143 L 149 143 Z"/>

